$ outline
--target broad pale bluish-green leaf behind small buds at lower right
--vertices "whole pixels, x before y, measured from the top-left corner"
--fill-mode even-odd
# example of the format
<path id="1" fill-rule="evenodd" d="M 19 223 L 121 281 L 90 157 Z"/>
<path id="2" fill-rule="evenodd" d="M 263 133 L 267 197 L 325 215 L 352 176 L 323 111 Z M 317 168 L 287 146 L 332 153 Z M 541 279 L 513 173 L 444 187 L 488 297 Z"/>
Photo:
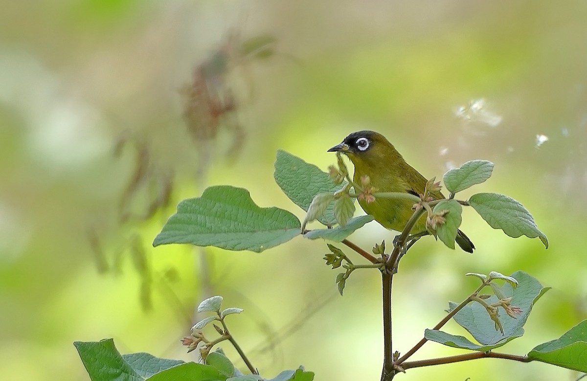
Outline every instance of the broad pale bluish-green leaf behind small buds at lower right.
<path id="1" fill-rule="evenodd" d="M 458 325 L 469 331 L 481 345 L 493 345 L 494 348 L 497 348 L 497 346 L 504 345 L 511 339 L 522 336 L 524 334 L 522 327 L 526 323 L 529 313 L 532 311 L 532 306 L 549 289 L 549 287 L 542 286 L 536 278 L 524 271 L 516 271 L 511 277 L 518 281 L 517 288 L 513 289 L 510 283 L 506 283 L 502 286 L 501 291 L 508 298 L 512 298 L 511 305 L 521 308 L 522 313 L 517 319 L 512 319 L 505 313 L 504 309 L 501 307 L 498 309 L 498 316 L 504 328 L 504 335 L 501 332 L 495 331 L 494 322 L 489 317 L 484 306 L 479 303 L 470 303 L 464 306 L 454 316 L 454 320 Z M 485 299 L 487 304 L 492 304 L 497 301 L 498 298 L 496 296 Z M 449 311 L 452 311 L 457 304 L 451 302 L 449 306 Z"/>

